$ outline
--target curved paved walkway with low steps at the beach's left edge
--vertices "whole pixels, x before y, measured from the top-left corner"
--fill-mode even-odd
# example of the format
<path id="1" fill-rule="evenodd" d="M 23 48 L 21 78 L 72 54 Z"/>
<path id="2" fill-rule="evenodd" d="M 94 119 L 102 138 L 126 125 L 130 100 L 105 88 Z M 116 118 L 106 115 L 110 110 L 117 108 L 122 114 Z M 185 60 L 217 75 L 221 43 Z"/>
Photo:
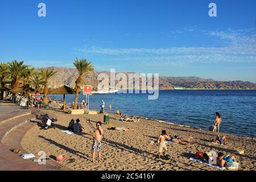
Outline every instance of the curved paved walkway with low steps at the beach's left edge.
<path id="1" fill-rule="evenodd" d="M 27 109 L 19 109 L 14 105 L 0 105 L 0 170 L 2 171 L 58 171 L 55 167 L 59 164 L 48 161 L 46 165 L 39 165 L 31 159 L 22 159 L 20 155 L 27 154 L 20 142 L 26 132 L 34 127 L 36 123 L 27 122 L 28 119 L 35 118 Z M 4 113 L 4 114 L 3 114 Z M 20 117 L 18 117 L 20 116 Z M 20 154 L 10 151 L 12 148 L 20 148 Z M 36 155 L 36 154 L 35 154 Z M 61 168 L 61 170 L 70 170 Z"/>

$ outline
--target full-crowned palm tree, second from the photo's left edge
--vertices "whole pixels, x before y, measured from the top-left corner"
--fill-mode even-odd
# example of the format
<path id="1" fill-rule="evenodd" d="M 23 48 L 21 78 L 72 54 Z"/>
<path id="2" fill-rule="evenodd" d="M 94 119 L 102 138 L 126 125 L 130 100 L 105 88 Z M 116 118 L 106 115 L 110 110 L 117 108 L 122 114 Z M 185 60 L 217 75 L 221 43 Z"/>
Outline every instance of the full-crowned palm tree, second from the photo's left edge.
<path id="1" fill-rule="evenodd" d="M 9 69 L 11 76 L 13 77 L 13 82 L 11 84 L 11 88 L 15 89 L 19 87 L 19 78 L 29 66 L 24 64 L 24 61 L 11 61 L 9 64 Z"/>

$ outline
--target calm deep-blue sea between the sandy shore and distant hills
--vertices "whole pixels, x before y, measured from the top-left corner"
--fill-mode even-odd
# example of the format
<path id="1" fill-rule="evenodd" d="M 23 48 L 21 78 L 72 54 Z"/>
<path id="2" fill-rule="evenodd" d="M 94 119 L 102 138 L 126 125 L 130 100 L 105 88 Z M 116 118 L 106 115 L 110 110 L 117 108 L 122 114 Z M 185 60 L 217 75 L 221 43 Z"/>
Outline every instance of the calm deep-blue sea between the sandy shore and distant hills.
<path id="1" fill-rule="evenodd" d="M 52 95 L 62 99 L 63 95 Z M 73 102 L 75 95 L 67 95 Z M 85 99 L 80 94 L 79 101 Z M 148 100 L 148 94 L 93 94 L 90 109 L 100 110 L 101 100 L 106 111 L 119 109 L 126 115 L 160 119 L 181 125 L 208 130 L 215 113 L 222 116 L 220 131 L 256 138 L 256 90 L 159 90 L 157 100 Z M 109 110 L 109 105 L 112 110 Z"/>

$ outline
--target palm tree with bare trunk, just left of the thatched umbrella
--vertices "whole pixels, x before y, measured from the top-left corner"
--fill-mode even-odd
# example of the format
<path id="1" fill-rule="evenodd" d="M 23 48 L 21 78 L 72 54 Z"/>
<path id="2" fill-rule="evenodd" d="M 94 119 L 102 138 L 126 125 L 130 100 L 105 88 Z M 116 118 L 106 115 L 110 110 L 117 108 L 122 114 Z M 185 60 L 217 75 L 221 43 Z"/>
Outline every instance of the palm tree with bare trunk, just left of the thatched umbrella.
<path id="1" fill-rule="evenodd" d="M 39 75 L 42 77 L 42 83 L 44 85 L 44 98 L 43 98 L 43 103 L 46 104 L 47 103 L 47 93 L 48 93 L 48 80 L 49 78 L 53 77 L 55 74 L 57 73 L 57 71 L 54 71 L 53 69 L 40 69 Z"/>

